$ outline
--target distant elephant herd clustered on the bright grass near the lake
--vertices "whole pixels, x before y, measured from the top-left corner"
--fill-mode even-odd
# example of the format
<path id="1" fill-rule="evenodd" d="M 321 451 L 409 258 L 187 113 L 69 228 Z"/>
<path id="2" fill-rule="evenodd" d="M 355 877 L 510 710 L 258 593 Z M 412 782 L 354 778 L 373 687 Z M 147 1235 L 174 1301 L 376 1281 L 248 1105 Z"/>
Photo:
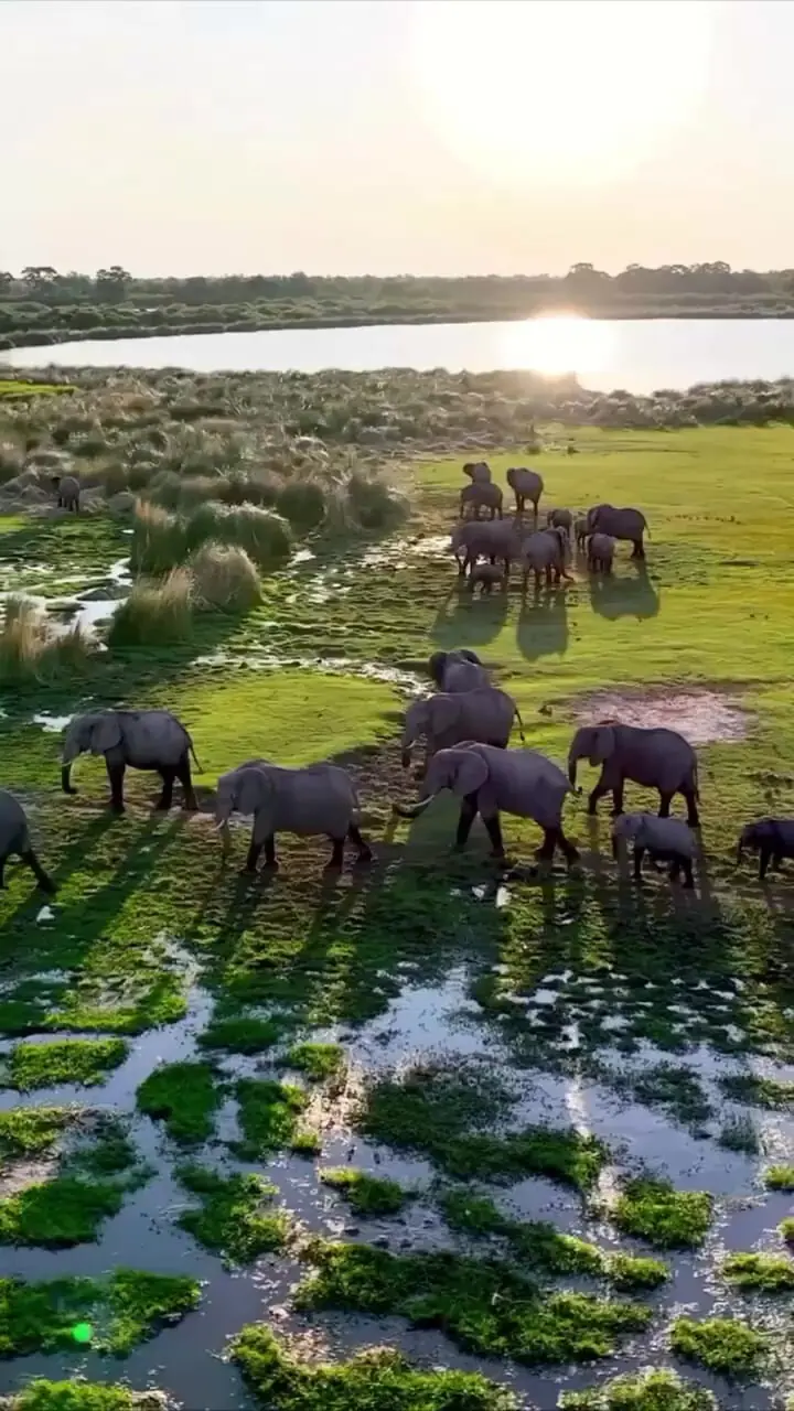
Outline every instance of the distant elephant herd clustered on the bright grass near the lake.
<path id="1" fill-rule="evenodd" d="M 586 553 L 588 569 L 592 573 L 612 573 L 615 549 L 619 539 L 632 543 L 632 557 L 644 559 L 644 535 L 647 521 L 641 509 L 615 505 L 593 505 L 586 514 L 575 515 L 571 509 L 550 509 L 544 529 L 538 529 L 538 504 L 544 491 L 543 476 L 526 466 L 513 466 L 506 474 L 509 487 L 516 497 L 516 516 L 503 516 L 504 494 L 492 480 L 490 466 L 485 460 L 468 461 L 463 474 L 470 484 L 463 485 L 459 501 L 459 519 L 452 531 L 449 547 L 458 560 L 461 577 L 468 574 L 472 593 L 490 593 L 494 586 L 507 587 L 510 569 L 519 563 L 523 570 L 526 591 L 530 574 L 534 574 L 535 588 L 545 579 L 547 584 L 571 581 L 567 562 L 575 540 L 576 549 Z M 531 504 L 534 528 L 523 522 L 524 508 Z M 485 511 L 487 518 L 480 518 Z M 499 563 L 497 563 L 499 560 Z M 500 566 L 499 566 L 500 564 Z"/>

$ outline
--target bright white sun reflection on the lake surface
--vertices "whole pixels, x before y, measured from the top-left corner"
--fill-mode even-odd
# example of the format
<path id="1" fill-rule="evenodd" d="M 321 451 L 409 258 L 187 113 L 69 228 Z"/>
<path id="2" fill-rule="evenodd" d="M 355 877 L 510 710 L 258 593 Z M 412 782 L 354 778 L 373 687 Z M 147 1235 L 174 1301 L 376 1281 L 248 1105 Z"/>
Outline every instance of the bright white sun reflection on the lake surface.
<path id="1" fill-rule="evenodd" d="M 612 361 L 610 323 L 575 313 L 548 315 L 504 325 L 504 365 L 555 377 L 562 373 L 602 373 Z"/>

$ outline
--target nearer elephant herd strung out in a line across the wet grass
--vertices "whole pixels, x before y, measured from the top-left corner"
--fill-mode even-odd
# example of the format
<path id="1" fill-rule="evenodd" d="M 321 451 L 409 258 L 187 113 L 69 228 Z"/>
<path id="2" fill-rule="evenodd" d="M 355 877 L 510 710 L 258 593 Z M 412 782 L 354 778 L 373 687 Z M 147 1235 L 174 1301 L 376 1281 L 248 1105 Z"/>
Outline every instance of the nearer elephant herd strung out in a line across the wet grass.
<path id="1" fill-rule="evenodd" d="M 568 769 L 537 749 L 510 749 L 513 722 L 521 741 L 524 729 L 514 700 L 493 686 L 475 652 L 458 649 L 435 652 L 428 663 L 437 687 L 428 698 L 415 700 L 405 711 L 401 749 L 403 766 L 411 762 L 411 746 L 425 742 L 422 780 L 415 804 L 393 804 L 393 813 L 417 818 L 437 794 L 449 790 L 461 801 L 455 848 L 463 848 L 472 823 L 479 814 L 490 838 L 492 855 L 504 861 L 502 838 L 503 813 L 535 823 L 543 831 L 537 852 L 540 862 L 551 864 L 557 851 L 571 866 L 578 861 L 576 848 L 562 828 L 562 810 L 568 794 L 576 793 L 576 768 L 586 759 L 600 775 L 588 799 L 593 816 L 598 801 L 612 794 L 613 855 L 620 844 L 632 845 L 634 878 L 641 882 L 643 859 L 653 866 L 667 862 L 670 878 L 684 873 L 684 885 L 694 885 L 692 862 L 697 856 L 694 830 L 698 816 L 698 761 L 695 751 L 674 729 L 641 728 L 620 721 L 600 721 L 579 728 L 568 749 Z M 185 809 L 198 809 L 191 776 L 195 752 L 186 728 L 164 710 L 107 710 L 76 717 L 68 727 L 61 755 L 64 792 L 76 793 L 72 765 L 81 753 L 102 755 L 110 785 L 110 807 L 124 811 L 124 775 L 127 768 L 160 775 L 162 789 L 158 809 L 171 807 L 174 783 L 184 792 Z M 658 816 L 623 813 L 626 783 L 656 789 Z M 581 790 L 578 790 L 581 793 Z M 687 806 L 687 821 L 670 816 L 675 794 Z M 332 845 L 328 868 L 339 871 L 345 844 L 356 849 L 357 862 L 370 862 L 372 851 L 360 832 L 360 800 L 346 769 L 331 763 L 285 768 L 266 759 L 249 759 L 218 780 L 215 817 L 223 838 L 223 854 L 230 848 L 229 818 L 239 813 L 253 818 L 246 871 L 256 872 L 264 851 L 268 869 L 278 866 L 277 832 L 325 835 Z M 759 854 L 759 875 L 794 856 L 794 820 L 763 818 L 747 824 L 739 837 L 736 865 L 745 849 Z M 18 855 L 31 868 L 37 883 L 54 892 L 52 879 L 41 866 L 30 840 L 25 813 L 20 801 L 0 790 L 0 886 L 8 856 Z"/>

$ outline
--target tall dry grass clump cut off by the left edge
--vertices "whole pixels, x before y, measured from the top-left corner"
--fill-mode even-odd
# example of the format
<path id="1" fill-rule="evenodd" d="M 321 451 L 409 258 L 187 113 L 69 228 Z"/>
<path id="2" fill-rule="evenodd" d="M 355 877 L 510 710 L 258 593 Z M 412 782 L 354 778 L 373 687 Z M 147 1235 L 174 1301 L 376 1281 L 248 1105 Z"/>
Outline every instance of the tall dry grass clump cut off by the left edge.
<path id="1" fill-rule="evenodd" d="M 78 625 L 59 631 L 31 598 L 6 598 L 0 631 L 0 682 L 48 682 L 82 672 L 95 643 Z"/>

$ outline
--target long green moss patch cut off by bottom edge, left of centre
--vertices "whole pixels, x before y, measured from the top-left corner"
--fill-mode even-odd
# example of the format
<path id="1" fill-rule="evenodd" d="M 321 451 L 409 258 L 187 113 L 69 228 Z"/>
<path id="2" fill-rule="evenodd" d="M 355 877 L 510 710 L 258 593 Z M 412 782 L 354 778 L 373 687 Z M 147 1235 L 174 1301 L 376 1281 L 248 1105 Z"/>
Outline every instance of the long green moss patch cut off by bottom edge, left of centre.
<path id="1" fill-rule="evenodd" d="M 232 1356 L 257 1398 L 278 1411 L 511 1411 L 511 1393 L 479 1373 L 420 1371 L 386 1348 L 350 1362 L 302 1363 L 270 1328 L 251 1325 Z"/>

